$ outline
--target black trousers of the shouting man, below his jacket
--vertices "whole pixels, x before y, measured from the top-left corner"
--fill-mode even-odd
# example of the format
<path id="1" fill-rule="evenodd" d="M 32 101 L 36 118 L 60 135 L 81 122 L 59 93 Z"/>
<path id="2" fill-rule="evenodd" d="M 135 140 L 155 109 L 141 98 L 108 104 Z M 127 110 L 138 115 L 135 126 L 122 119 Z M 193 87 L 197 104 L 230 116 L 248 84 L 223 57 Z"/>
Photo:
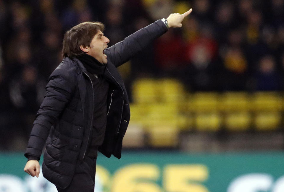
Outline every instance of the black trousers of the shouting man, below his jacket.
<path id="1" fill-rule="evenodd" d="M 65 188 L 56 186 L 58 192 L 94 192 L 97 157 L 86 156 L 83 162 L 77 162 L 74 177 Z M 68 167 L 66 167 L 68 169 Z"/>

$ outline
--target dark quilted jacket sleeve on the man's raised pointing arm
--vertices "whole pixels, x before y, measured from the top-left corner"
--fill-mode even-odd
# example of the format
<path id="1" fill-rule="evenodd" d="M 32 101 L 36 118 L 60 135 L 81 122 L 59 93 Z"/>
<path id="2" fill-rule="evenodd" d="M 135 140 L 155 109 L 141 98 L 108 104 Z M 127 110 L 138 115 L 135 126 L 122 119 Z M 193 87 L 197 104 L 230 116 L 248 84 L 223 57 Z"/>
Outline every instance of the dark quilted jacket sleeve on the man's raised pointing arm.
<path id="1" fill-rule="evenodd" d="M 105 53 L 114 66 L 118 67 L 127 62 L 139 51 L 146 48 L 153 40 L 167 32 L 167 27 L 161 20 L 144 27 L 123 41 L 106 49 Z"/>

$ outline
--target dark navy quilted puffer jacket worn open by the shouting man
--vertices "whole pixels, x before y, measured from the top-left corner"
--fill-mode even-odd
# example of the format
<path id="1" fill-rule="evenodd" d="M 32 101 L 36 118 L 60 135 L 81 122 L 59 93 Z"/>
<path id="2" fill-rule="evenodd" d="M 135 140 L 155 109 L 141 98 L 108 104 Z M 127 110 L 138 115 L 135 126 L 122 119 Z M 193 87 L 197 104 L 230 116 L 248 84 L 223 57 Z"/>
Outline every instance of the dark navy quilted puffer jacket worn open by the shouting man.
<path id="1" fill-rule="evenodd" d="M 123 41 L 107 48 L 104 77 L 109 81 L 107 124 L 99 151 L 106 157 L 120 159 L 122 138 L 130 119 L 128 96 L 117 67 L 167 31 L 161 20 L 142 28 Z M 77 58 L 64 58 L 46 85 L 46 95 L 36 115 L 25 152 L 43 155 L 43 176 L 66 188 L 88 147 L 93 121 L 94 91 L 91 79 Z"/>

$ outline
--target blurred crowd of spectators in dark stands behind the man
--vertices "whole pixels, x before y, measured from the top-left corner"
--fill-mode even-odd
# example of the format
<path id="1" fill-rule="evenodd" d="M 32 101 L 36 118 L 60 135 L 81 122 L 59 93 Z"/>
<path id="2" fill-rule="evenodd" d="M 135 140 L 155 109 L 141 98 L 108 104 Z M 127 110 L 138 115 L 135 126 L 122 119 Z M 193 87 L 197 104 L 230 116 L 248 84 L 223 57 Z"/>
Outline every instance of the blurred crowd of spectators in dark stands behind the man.
<path id="1" fill-rule="evenodd" d="M 100 21 L 110 46 L 189 8 L 182 28 L 120 68 L 130 98 L 141 77 L 176 78 L 190 92 L 284 90 L 284 0 L 0 0 L 1 149 L 25 147 L 65 31 Z"/>

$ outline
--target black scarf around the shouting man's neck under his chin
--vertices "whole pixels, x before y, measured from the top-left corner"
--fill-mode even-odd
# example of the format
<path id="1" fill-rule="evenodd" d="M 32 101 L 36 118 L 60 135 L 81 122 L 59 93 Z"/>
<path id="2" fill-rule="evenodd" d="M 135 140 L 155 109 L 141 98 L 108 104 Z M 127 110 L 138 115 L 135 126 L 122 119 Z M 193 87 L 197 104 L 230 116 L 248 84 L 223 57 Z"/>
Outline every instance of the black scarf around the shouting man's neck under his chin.
<path id="1" fill-rule="evenodd" d="M 88 54 L 83 54 L 81 56 L 78 56 L 78 59 L 82 62 L 89 73 L 97 75 L 104 74 L 106 65 L 101 64 L 98 60 L 96 60 L 96 58 Z"/>

